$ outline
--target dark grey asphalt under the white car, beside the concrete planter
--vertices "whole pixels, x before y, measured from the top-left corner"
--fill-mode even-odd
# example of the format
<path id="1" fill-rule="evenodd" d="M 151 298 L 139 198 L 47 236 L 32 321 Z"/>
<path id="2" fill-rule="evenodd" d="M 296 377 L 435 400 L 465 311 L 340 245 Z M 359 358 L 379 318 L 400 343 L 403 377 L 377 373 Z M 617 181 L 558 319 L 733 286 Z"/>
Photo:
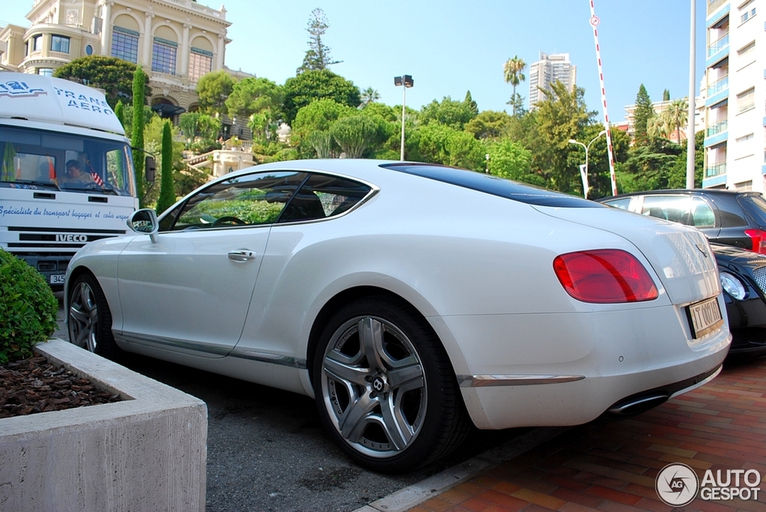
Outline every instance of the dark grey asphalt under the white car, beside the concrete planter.
<path id="1" fill-rule="evenodd" d="M 59 324 L 68 340 L 63 304 Z M 133 354 L 121 364 L 208 404 L 208 512 L 351 512 L 529 431 L 472 432 L 449 458 L 378 474 L 345 458 L 306 396 Z"/>

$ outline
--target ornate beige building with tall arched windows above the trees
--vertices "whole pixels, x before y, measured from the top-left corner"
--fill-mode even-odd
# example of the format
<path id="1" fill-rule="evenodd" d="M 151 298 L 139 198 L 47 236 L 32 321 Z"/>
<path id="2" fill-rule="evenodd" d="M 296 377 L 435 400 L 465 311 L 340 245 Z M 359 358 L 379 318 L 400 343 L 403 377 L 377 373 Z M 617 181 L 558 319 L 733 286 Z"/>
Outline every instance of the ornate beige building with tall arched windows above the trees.
<path id="1" fill-rule="evenodd" d="M 226 69 L 231 42 L 224 6 L 192 0 L 34 0 L 27 19 L 0 29 L 0 70 L 50 75 L 77 57 L 119 57 L 149 74 L 152 108 L 165 117 L 195 109 L 197 80 Z"/>

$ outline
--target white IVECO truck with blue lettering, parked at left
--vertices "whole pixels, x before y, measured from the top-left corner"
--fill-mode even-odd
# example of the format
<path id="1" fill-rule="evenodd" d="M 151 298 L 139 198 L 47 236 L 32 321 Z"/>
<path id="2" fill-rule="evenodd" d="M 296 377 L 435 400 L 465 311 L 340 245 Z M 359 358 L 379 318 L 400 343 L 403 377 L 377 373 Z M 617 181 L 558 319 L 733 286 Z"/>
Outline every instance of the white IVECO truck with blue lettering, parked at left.
<path id="1" fill-rule="evenodd" d="M 0 155 L 0 247 L 54 291 L 77 249 L 126 233 L 139 206 L 130 142 L 99 90 L 0 73 Z"/>

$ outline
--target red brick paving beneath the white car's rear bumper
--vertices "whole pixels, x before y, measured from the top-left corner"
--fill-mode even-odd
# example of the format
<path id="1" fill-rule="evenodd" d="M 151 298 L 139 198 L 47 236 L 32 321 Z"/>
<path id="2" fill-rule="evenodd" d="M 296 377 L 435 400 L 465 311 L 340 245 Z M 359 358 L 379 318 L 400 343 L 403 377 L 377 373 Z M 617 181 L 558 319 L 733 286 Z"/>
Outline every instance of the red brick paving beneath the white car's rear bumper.
<path id="1" fill-rule="evenodd" d="M 577 426 L 451 488 L 409 512 L 766 512 L 758 501 L 682 508 L 657 497 L 671 463 L 705 470 L 755 469 L 766 478 L 766 359 L 726 364 L 715 380 L 640 416 Z"/>

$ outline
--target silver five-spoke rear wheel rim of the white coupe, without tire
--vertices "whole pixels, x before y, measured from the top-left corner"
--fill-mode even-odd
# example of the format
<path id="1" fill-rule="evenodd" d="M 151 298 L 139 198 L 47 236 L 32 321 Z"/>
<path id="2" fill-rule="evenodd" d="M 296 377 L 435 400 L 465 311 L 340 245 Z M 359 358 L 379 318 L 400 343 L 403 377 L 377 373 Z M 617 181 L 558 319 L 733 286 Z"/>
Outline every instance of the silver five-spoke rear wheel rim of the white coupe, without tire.
<path id="1" fill-rule="evenodd" d="M 391 457 L 420 432 L 427 405 L 423 365 L 391 322 L 360 316 L 342 324 L 327 344 L 320 378 L 329 417 L 356 451 Z"/>

